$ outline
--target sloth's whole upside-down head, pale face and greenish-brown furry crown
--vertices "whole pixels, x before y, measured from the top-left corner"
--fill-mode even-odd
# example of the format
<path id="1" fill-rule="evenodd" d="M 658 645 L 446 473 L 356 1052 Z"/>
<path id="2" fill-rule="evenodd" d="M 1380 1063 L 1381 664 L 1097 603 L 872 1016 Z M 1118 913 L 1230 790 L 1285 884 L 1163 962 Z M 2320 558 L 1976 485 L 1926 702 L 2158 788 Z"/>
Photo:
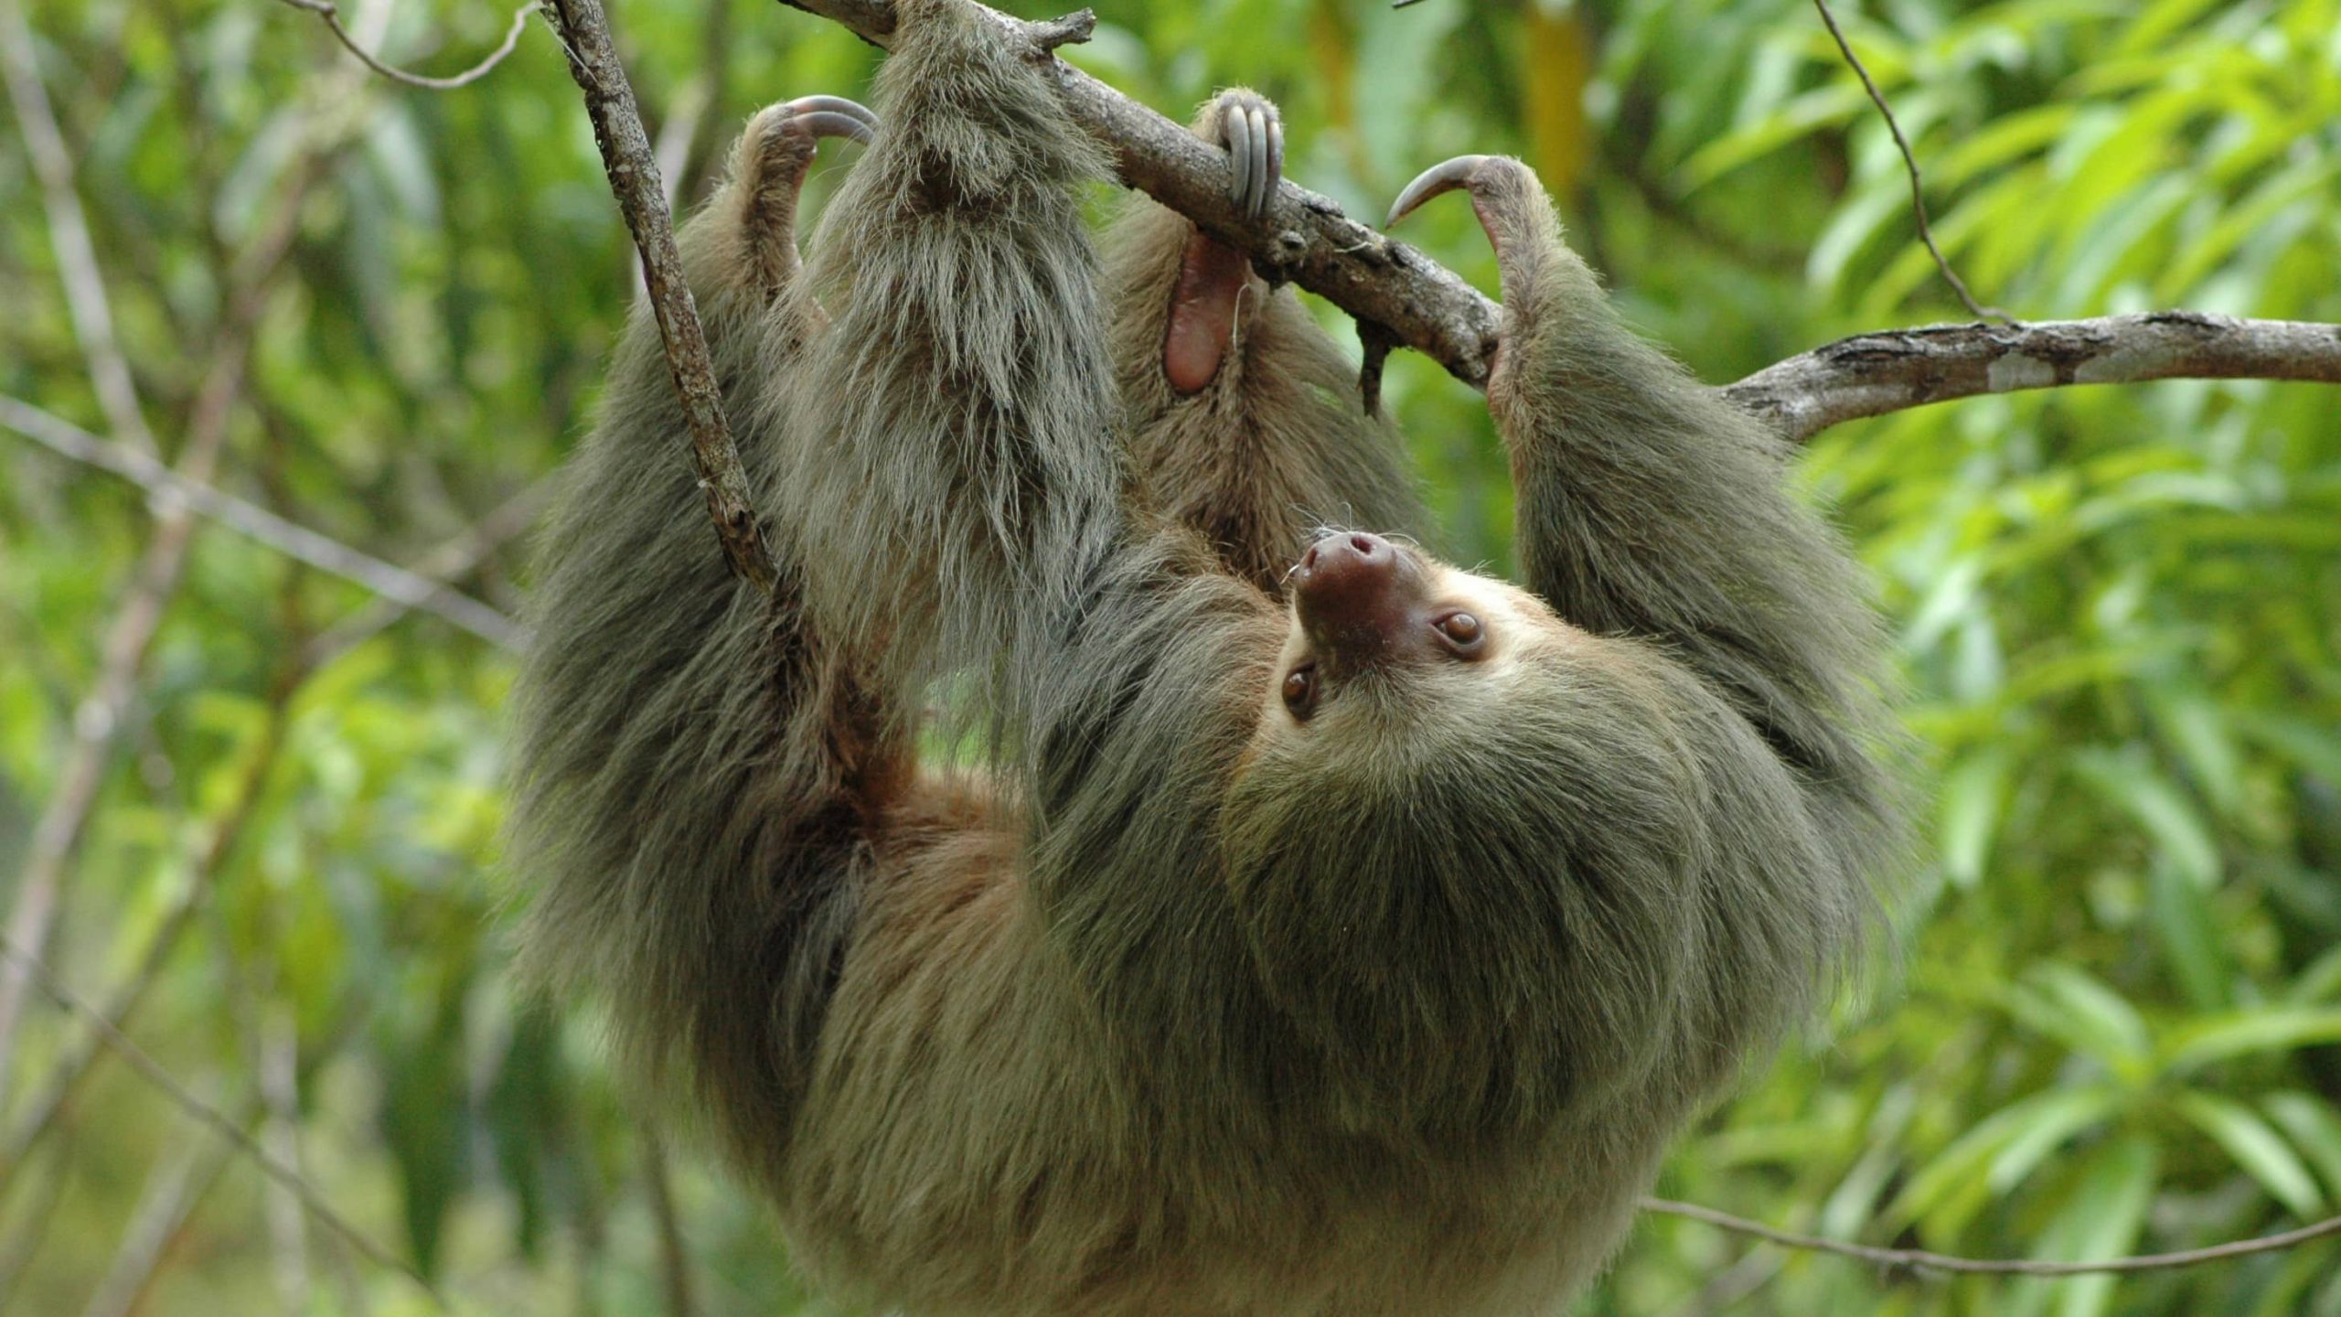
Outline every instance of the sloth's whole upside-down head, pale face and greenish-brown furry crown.
<path id="1" fill-rule="evenodd" d="M 1377 534 L 1318 539 L 1288 593 L 1222 816 L 1271 998 L 1369 1085 L 1440 1087 L 1407 1073 L 1421 1057 L 1487 1083 L 1475 1043 L 1536 1064 L 1501 1038 L 1517 1029 L 1632 1073 L 1693 956 L 1697 787 L 1662 694 L 1536 595 Z M 1592 982 L 1643 996 L 1573 996 Z M 1498 1087 L 1554 1083 L 1585 1073 Z"/>

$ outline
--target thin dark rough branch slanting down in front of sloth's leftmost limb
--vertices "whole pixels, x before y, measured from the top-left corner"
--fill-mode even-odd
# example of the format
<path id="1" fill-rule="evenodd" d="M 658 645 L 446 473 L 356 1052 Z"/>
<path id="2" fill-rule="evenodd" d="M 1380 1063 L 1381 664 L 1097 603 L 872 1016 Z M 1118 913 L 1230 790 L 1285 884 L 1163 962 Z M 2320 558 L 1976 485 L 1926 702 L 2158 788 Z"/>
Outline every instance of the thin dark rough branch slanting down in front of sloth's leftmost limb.
<path id="1" fill-rule="evenodd" d="M 667 349 L 674 391 L 684 403 L 684 422 L 691 427 L 691 464 L 707 494 L 707 513 L 723 539 L 723 555 L 735 574 L 773 593 L 780 574 L 763 544 L 763 525 L 747 494 L 747 471 L 723 419 L 723 394 L 707 356 L 698 302 L 674 251 L 674 220 L 658 183 L 658 159 L 641 129 L 641 110 L 634 108 L 625 66 L 618 63 L 618 49 L 609 40 L 609 16 L 602 14 L 602 0 L 543 0 L 543 12 L 562 49 L 569 52 L 569 75 L 585 91 L 585 112 L 602 148 L 609 190 L 618 197 L 634 248 L 641 251 L 641 281 L 658 319 L 658 337 Z"/>

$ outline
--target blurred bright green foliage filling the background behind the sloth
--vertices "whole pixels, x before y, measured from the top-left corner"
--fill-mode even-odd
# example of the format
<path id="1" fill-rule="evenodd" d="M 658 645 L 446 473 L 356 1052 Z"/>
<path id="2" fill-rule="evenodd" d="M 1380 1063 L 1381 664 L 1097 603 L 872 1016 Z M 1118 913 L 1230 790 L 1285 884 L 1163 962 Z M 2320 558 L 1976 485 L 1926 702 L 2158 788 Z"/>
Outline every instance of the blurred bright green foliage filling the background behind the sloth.
<path id="1" fill-rule="evenodd" d="M 1262 89 L 1290 173 L 1353 213 L 1454 152 L 1531 159 L 1629 314 L 1709 380 L 1955 319 L 1892 141 L 1798 0 L 1098 9 L 1077 63 L 1170 115 Z M 513 609 L 515 532 L 634 281 L 550 35 L 417 91 L 269 0 L 9 12 L 28 28 L 0 42 L 30 30 L 14 54 L 54 103 L 140 410 L 91 384 L 21 94 L 0 131 L 0 396 L 112 443 L 143 419 L 171 462 L 211 445 L 218 485 Z M 2341 321 L 2336 0 L 1840 19 L 1983 300 Z M 445 73 L 508 9 L 358 0 L 349 21 Z M 756 105 L 857 94 L 876 59 L 763 0 L 613 21 L 686 202 Z M 1463 206 L 1407 237 L 1494 286 Z M 1510 494 L 1477 396 L 1407 354 L 1386 396 L 1449 548 L 1501 565 Z M 506 975 L 506 907 L 527 900 L 496 879 L 510 654 L 206 520 L 150 586 L 159 630 L 105 722 L 108 637 L 173 509 L 19 434 L 0 473 L 9 905 L 70 766 L 98 769 L 56 869 L 63 982 L 459 1312 L 824 1312 L 768 1216 L 613 1092 L 592 1022 Z M 1901 956 L 1686 1139 L 1662 1193 L 2041 1258 L 2341 1212 L 2341 394 L 1976 398 L 1840 427 L 1803 473 L 1882 581 L 1931 841 Z M 40 994 L 5 1083 L 0 1312 L 431 1308 Z M 1583 1310 L 2334 1317 L 2341 1242 L 1931 1280 L 1648 1219 Z"/>

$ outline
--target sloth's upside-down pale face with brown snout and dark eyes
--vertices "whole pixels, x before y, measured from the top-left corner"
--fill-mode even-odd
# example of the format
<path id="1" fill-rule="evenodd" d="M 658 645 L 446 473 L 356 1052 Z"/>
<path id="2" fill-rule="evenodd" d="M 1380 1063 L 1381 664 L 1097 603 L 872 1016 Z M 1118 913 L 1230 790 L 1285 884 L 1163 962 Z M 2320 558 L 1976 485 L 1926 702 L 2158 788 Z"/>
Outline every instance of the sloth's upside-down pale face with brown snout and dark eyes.
<path id="1" fill-rule="evenodd" d="M 1526 591 L 1379 534 L 1334 532 L 1288 576 L 1283 651 L 1255 750 L 1379 755 L 1423 717 L 1475 722 L 1517 698 L 1524 668 L 1568 628 Z"/>

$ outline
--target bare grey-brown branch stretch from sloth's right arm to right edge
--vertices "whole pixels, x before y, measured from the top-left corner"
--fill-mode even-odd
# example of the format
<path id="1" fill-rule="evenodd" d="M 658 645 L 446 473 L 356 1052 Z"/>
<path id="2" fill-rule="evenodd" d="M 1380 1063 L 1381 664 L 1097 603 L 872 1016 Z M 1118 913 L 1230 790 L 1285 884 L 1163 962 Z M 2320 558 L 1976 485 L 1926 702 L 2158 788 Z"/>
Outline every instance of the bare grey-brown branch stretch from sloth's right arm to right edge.
<path id="1" fill-rule="evenodd" d="M 1791 441 L 1927 403 L 2147 380 L 2341 384 L 2341 326 L 2149 312 L 2091 321 L 1922 326 L 1863 333 L 1730 384 L 1723 394 Z"/>

